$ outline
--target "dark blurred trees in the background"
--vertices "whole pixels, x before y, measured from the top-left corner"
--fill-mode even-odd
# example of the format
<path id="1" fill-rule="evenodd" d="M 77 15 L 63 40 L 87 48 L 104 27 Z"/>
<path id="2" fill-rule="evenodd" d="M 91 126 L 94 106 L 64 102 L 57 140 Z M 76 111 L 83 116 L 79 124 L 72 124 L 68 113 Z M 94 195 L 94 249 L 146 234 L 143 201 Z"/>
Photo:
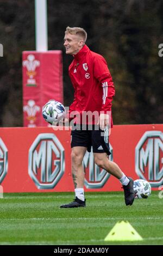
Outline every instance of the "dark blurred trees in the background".
<path id="1" fill-rule="evenodd" d="M 154 0 L 48 0 L 48 48 L 64 50 L 67 26 L 83 27 L 87 45 L 102 54 L 116 96 L 115 124 L 162 123 L 163 76 L 158 46 L 163 43 L 163 4 Z M 0 126 L 22 126 L 22 51 L 35 50 L 33 0 L 1 0 Z M 72 57 L 63 53 L 64 103 L 73 100 L 68 77 Z"/>

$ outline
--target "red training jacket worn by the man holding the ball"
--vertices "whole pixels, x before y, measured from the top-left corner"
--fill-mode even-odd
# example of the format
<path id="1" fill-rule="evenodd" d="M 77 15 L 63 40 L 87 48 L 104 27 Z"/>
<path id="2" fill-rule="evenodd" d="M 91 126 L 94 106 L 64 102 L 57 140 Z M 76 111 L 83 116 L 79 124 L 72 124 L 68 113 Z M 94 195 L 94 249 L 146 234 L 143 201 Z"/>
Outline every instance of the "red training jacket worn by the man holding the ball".
<path id="1" fill-rule="evenodd" d="M 72 111 L 80 114 L 83 111 L 111 111 L 115 88 L 106 60 L 86 45 L 73 57 L 69 76 L 74 87 L 74 101 L 66 117 L 70 117 Z"/>

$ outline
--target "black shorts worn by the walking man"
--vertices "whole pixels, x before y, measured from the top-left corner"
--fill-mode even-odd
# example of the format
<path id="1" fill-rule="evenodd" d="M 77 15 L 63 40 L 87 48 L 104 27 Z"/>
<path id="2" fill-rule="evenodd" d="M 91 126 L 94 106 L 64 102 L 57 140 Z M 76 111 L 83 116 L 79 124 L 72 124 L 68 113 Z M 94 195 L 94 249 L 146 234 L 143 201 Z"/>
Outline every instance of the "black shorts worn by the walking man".
<path id="1" fill-rule="evenodd" d="M 78 127 L 79 128 L 79 127 Z M 72 130 L 71 131 L 71 148 L 73 147 L 86 147 L 88 152 L 91 152 L 91 147 L 93 148 L 93 153 L 106 153 L 110 155 L 109 151 L 109 131 L 106 128 L 104 131 L 95 130 L 95 125 L 92 126 L 92 130 L 86 126 L 86 130 Z"/>

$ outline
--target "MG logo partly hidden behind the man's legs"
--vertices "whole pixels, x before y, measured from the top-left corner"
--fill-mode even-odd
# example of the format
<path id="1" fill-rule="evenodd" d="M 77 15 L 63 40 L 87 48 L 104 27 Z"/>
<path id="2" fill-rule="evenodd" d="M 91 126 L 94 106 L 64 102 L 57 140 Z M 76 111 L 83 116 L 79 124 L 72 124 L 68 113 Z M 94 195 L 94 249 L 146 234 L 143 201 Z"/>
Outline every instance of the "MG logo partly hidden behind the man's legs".
<path id="1" fill-rule="evenodd" d="M 112 147 L 110 144 L 109 147 L 111 153 L 109 160 L 113 161 Z M 95 164 L 92 150 L 91 153 L 86 151 L 83 166 L 85 172 L 84 185 L 86 188 L 101 188 L 110 177 L 110 174 L 106 172 L 106 170 L 99 168 L 97 164 Z"/>

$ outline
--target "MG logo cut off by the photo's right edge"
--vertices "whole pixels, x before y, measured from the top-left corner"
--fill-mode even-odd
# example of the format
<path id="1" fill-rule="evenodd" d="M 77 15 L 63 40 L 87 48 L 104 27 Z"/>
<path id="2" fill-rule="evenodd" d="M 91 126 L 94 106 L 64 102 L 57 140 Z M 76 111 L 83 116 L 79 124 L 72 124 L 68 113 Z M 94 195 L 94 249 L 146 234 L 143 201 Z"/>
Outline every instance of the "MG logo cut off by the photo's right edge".
<path id="1" fill-rule="evenodd" d="M 135 148 L 135 170 L 152 187 L 163 185 L 163 133 L 147 131 Z"/>

